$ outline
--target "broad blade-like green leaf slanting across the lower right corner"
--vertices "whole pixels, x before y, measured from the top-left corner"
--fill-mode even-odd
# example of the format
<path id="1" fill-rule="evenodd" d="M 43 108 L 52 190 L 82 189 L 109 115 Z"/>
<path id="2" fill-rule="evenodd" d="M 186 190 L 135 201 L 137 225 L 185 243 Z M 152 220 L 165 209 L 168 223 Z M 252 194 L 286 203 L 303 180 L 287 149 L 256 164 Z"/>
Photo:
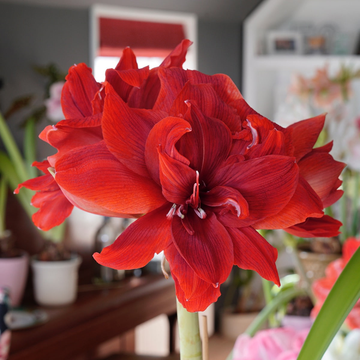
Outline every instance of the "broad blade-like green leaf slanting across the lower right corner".
<path id="1" fill-rule="evenodd" d="M 332 287 L 301 348 L 297 360 L 320 360 L 360 297 L 360 247 Z"/>

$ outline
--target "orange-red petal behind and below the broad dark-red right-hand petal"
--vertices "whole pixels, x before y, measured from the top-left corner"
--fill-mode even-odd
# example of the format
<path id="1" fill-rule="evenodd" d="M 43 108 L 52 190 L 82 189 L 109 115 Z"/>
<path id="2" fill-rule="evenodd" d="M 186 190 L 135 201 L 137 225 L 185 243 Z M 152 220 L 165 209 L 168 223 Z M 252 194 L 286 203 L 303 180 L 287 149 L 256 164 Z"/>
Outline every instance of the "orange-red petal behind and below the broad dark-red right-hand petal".
<path id="1" fill-rule="evenodd" d="M 299 176 L 296 191 L 291 200 L 276 215 L 253 224 L 255 229 L 283 229 L 299 224 L 308 217 L 322 217 L 323 203 L 311 186 Z"/>

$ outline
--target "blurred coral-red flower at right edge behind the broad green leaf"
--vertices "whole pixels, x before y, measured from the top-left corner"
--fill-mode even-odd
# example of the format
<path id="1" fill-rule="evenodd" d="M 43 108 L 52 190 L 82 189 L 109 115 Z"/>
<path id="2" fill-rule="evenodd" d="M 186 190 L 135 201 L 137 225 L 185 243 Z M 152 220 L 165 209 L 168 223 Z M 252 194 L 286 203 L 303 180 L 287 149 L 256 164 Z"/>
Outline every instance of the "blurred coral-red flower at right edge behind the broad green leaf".
<path id="1" fill-rule="evenodd" d="M 359 246 L 360 239 L 354 237 L 348 238 L 342 247 L 342 257 L 330 262 L 325 270 L 325 277 L 312 283 L 312 291 L 317 300 L 311 311 L 312 318 L 316 318 L 316 315 L 318 315 L 331 288 Z M 360 329 L 360 300 L 356 302 L 355 306 L 350 311 L 345 323 L 350 329 Z"/>

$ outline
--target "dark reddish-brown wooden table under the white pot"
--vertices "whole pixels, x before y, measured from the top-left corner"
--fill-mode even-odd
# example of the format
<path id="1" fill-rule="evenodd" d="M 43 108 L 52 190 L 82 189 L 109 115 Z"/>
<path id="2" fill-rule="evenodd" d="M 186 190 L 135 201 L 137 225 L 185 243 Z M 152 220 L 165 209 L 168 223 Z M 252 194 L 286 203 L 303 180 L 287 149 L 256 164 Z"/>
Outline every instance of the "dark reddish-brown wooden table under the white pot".
<path id="1" fill-rule="evenodd" d="M 13 331 L 9 360 L 75 359 L 155 316 L 175 314 L 175 287 L 149 274 L 108 288 L 82 285 L 74 304 L 41 309 L 49 320 Z"/>

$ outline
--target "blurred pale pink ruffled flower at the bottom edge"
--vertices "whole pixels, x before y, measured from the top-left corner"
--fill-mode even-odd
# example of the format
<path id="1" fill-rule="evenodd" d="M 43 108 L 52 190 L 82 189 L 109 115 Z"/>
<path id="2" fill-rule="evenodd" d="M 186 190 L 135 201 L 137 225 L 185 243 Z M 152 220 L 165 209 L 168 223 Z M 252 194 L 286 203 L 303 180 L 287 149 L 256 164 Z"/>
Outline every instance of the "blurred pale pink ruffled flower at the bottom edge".
<path id="1" fill-rule="evenodd" d="M 235 342 L 233 360 L 295 360 L 308 332 L 283 327 L 261 330 L 253 338 L 242 334 Z"/>

